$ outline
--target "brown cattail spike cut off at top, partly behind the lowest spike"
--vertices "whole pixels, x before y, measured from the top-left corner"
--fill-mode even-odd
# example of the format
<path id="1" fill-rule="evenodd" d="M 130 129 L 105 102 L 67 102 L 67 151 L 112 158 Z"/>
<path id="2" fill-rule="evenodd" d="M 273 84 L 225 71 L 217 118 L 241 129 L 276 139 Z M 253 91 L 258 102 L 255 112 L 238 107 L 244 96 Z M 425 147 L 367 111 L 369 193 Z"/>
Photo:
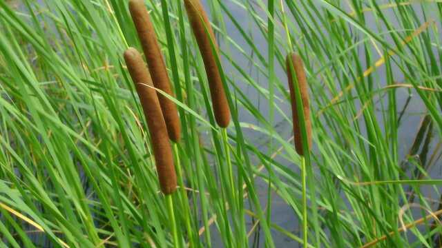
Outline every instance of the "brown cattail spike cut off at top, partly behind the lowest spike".
<path id="1" fill-rule="evenodd" d="M 142 0 L 129 1 L 129 10 L 131 11 L 133 23 L 137 29 L 138 38 L 142 45 L 144 56 L 146 56 L 147 65 L 153 79 L 153 85 L 167 94 L 173 96 L 171 83 L 166 70 L 163 56 L 158 45 L 155 30 L 153 28 L 151 17 L 144 6 Z M 157 92 L 160 100 L 161 109 L 166 121 L 167 132 L 172 141 L 178 142 L 181 136 L 180 118 L 178 117 L 175 103 Z"/>

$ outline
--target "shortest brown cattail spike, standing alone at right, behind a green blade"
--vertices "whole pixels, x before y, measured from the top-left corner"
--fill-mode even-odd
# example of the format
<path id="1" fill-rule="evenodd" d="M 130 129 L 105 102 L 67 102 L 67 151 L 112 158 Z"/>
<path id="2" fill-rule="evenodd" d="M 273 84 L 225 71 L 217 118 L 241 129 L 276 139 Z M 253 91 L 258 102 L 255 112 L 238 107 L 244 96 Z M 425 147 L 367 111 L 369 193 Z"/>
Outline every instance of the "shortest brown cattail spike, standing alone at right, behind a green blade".
<path id="1" fill-rule="evenodd" d="M 309 108 L 309 88 L 307 87 L 307 78 L 305 76 L 304 65 L 302 59 L 297 54 L 289 54 L 287 56 L 287 74 L 289 76 L 289 89 L 290 89 L 290 100 L 291 100 L 291 113 L 293 116 L 293 132 L 295 139 L 296 152 L 303 156 L 305 150 L 302 149 L 302 137 L 300 130 L 300 123 L 298 117 L 298 109 L 296 108 L 296 96 L 294 90 L 294 80 L 291 74 L 292 70 L 295 72 L 295 76 L 298 82 L 298 89 L 300 90 L 300 95 L 302 99 L 302 107 L 304 110 L 305 118 L 305 128 L 307 129 L 307 144 L 311 148 L 311 122 L 310 122 L 310 108 Z"/>

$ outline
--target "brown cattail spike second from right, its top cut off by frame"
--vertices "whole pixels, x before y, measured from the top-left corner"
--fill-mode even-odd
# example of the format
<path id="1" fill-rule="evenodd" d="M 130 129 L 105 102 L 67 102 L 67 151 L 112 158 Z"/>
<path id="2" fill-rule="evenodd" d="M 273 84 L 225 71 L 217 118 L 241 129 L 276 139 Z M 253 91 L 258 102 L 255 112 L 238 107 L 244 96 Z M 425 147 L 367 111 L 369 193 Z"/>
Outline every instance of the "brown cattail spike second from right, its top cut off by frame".
<path id="1" fill-rule="evenodd" d="M 209 23 L 209 18 L 202 7 L 199 0 L 184 0 L 186 6 L 187 16 L 195 34 L 198 47 L 204 61 L 206 68 L 207 79 L 209 80 L 210 93 L 212 97 L 213 112 L 215 113 L 215 120 L 220 127 L 227 127 L 230 122 L 230 109 L 227 104 L 226 94 L 222 81 L 220 71 L 215 61 L 215 54 L 213 54 L 212 45 L 215 45 L 215 51 L 218 52 L 218 45 L 215 41 L 215 34 Z M 206 30 L 209 32 L 207 35 Z"/>

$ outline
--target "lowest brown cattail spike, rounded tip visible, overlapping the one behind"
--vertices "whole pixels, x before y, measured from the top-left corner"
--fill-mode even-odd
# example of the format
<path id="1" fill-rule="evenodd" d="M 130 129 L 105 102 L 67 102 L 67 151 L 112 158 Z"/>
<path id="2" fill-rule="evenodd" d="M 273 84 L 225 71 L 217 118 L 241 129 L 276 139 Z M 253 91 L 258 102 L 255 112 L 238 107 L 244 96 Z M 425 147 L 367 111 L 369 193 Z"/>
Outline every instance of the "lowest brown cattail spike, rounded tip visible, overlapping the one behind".
<path id="1" fill-rule="evenodd" d="M 177 178 L 173 166 L 173 155 L 166 123 L 161 112 L 157 93 L 153 89 L 151 75 L 149 74 L 141 54 L 135 48 L 129 48 L 124 52 L 124 60 L 135 83 L 140 102 L 144 110 L 144 116 L 151 134 L 153 155 L 157 167 L 160 187 L 164 194 L 175 192 Z"/>

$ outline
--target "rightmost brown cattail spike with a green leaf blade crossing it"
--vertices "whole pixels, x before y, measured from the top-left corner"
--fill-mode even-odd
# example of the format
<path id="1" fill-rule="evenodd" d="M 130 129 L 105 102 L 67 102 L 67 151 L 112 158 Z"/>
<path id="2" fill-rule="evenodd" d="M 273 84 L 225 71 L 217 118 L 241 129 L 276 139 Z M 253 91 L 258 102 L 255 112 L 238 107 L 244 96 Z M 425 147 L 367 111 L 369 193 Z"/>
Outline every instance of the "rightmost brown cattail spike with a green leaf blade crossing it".
<path id="1" fill-rule="evenodd" d="M 295 75 L 293 75 L 293 72 Z M 296 54 L 289 54 L 287 56 L 287 74 L 289 78 L 295 148 L 300 156 L 304 156 L 311 147 L 311 122 L 307 78 L 300 56 Z M 298 96 L 300 95 L 301 105 L 298 105 L 296 101 L 297 94 Z M 303 125 L 305 125 L 305 135 L 302 134 Z M 307 147 L 304 148 L 302 143 L 305 143 Z"/>

